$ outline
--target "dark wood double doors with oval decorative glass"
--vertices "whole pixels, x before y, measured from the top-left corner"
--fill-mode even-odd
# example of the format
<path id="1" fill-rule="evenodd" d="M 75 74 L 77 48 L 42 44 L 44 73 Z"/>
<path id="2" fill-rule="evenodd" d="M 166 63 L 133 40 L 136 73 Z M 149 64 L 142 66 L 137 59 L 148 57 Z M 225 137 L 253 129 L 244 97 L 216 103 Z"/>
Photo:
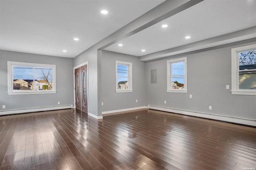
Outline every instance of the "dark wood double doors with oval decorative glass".
<path id="1" fill-rule="evenodd" d="M 79 111 L 88 113 L 87 63 L 74 68 L 75 106 Z"/>

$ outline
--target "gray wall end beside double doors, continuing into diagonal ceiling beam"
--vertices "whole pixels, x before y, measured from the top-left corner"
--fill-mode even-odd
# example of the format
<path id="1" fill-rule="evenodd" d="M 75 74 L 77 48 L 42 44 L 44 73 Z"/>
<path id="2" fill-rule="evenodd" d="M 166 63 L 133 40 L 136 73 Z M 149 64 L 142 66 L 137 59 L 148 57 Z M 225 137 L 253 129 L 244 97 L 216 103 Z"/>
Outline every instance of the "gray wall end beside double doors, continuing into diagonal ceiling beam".
<path id="1" fill-rule="evenodd" d="M 184 10 L 184 8 L 188 8 L 189 6 L 193 5 L 193 3 L 191 3 L 179 8 L 179 6 L 186 2 L 188 2 L 188 0 L 164 1 L 156 8 L 153 8 L 139 18 L 136 18 L 126 26 L 120 28 L 100 42 L 92 45 L 92 47 L 86 49 L 84 52 L 80 53 L 74 58 L 74 67 L 88 61 L 88 79 L 89 82 L 90 80 L 93 80 L 93 83 L 88 83 L 89 113 L 98 117 L 102 116 L 102 107 L 101 105 L 98 105 L 98 103 L 102 101 L 102 95 L 100 89 L 98 89 L 98 87 L 101 87 L 99 81 L 101 79 L 101 63 L 98 64 L 101 57 L 101 55 L 98 56 L 98 54 L 101 52 L 98 53 L 98 49 L 104 49 L 109 45 L 136 34 L 137 32 L 180 12 L 180 10 Z"/>

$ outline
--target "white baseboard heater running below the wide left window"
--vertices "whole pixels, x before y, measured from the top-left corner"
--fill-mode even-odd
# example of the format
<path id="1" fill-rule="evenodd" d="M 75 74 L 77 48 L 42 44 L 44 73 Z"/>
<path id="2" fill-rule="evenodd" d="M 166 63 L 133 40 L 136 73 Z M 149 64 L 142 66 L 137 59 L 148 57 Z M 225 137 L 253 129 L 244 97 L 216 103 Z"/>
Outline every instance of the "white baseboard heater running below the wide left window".
<path id="1" fill-rule="evenodd" d="M 60 109 L 72 109 L 72 108 L 74 108 L 73 105 L 40 107 L 40 108 L 30 108 L 30 109 L 16 109 L 16 110 L 0 111 L 0 115 L 12 115 L 12 114 L 19 114 L 19 113 L 52 111 L 52 110 L 60 110 Z"/>

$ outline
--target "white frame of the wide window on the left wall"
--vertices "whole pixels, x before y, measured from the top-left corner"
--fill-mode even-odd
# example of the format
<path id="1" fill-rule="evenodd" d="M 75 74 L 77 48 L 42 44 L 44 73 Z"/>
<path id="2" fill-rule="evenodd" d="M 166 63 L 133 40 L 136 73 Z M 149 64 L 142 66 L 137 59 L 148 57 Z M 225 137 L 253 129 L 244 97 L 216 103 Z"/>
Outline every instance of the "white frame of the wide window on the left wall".
<path id="1" fill-rule="evenodd" d="M 46 67 L 52 68 L 52 90 L 13 90 L 13 69 L 12 66 L 25 66 L 25 67 Z M 37 64 L 37 63 L 22 63 L 7 61 L 7 70 L 8 70 L 8 95 L 28 95 L 28 94 L 49 94 L 56 93 L 56 65 L 51 64 Z"/>

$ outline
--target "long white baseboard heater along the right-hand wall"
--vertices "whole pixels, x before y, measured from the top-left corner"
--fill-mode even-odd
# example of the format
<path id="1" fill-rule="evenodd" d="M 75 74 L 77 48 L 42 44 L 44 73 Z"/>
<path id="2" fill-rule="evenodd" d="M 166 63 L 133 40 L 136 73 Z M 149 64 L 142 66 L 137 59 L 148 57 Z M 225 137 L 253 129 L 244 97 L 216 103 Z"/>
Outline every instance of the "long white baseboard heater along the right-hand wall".
<path id="1" fill-rule="evenodd" d="M 148 105 L 148 109 L 154 109 L 154 110 L 166 111 L 166 112 L 172 112 L 172 113 L 179 113 L 182 115 L 202 117 L 202 118 L 207 118 L 207 119 L 214 119 L 214 120 L 218 120 L 218 121 L 238 123 L 238 124 L 242 124 L 242 125 L 249 125 L 249 126 L 256 127 L 256 120 L 253 120 L 253 119 L 244 119 L 244 118 L 240 118 L 240 117 L 230 117 L 230 116 L 216 115 L 216 114 L 212 114 L 212 113 L 203 113 L 203 112 L 196 112 L 196 111 L 186 111 L 186 110 L 181 110 L 181 109 L 174 109 L 174 108 L 160 107 L 160 106 L 153 106 L 153 105 Z"/>

